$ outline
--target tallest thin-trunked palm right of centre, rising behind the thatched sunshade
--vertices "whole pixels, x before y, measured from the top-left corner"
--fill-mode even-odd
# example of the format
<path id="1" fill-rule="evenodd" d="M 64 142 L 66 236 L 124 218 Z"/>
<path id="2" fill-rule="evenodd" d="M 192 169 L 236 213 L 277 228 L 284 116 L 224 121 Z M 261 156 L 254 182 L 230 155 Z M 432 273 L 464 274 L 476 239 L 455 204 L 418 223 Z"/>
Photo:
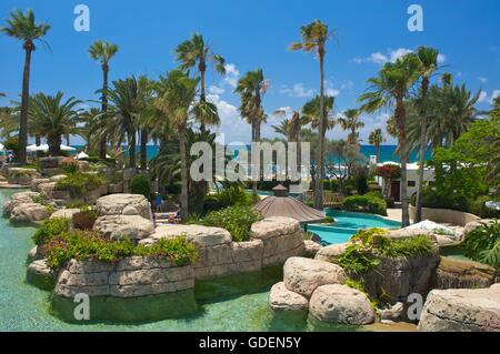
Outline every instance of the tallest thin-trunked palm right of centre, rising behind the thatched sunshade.
<path id="1" fill-rule="evenodd" d="M 320 114 L 319 117 L 326 117 L 324 114 L 324 55 L 327 41 L 330 39 L 331 34 L 328 31 L 328 26 L 316 20 L 312 23 L 301 27 L 301 42 L 292 43 L 290 45 L 291 50 L 303 50 L 304 52 L 316 52 L 320 62 L 320 94 L 319 94 L 319 105 Z M 323 166 L 324 166 L 324 122 L 319 121 L 318 129 L 320 131 L 320 141 L 318 149 L 318 170 L 317 170 L 317 181 L 322 180 Z M 323 209 L 323 183 L 316 183 L 314 185 L 314 208 Z"/>

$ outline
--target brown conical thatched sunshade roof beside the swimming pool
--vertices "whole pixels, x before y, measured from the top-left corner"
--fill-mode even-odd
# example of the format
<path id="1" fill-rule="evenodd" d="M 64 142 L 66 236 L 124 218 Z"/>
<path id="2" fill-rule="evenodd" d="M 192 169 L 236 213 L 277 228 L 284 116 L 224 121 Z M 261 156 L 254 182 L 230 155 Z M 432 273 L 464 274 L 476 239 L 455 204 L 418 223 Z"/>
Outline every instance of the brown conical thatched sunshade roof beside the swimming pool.
<path id="1" fill-rule="evenodd" d="M 301 223 L 319 222 L 327 218 L 322 211 L 310 208 L 297 199 L 287 196 L 283 193 L 283 189 L 282 185 L 273 189 L 274 195 L 261 200 L 253 205 L 253 209 L 264 218 L 286 216 Z"/>

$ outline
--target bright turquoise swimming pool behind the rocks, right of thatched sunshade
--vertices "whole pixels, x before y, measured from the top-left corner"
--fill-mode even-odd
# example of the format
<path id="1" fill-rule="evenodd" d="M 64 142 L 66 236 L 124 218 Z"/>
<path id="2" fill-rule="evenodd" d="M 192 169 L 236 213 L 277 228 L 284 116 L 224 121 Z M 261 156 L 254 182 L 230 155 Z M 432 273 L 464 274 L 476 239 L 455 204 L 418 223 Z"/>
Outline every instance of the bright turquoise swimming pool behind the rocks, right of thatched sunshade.
<path id="1" fill-rule="evenodd" d="M 308 224 L 308 231 L 317 234 L 326 244 L 348 242 L 359 230 L 371 227 L 398 229 L 400 222 L 387 220 L 378 215 L 350 213 L 326 209 L 326 214 L 336 220 L 333 224 Z"/>

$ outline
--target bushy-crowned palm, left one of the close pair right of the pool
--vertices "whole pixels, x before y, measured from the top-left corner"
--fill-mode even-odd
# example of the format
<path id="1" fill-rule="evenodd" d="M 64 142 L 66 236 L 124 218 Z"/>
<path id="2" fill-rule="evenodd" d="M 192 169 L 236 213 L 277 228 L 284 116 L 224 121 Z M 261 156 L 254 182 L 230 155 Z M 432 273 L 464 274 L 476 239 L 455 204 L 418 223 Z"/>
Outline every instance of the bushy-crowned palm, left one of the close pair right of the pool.
<path id="1" fill-rule="evenodd" d="M 402 225 L 410 224 L 408 184 L 407 184 L 407 111 L 404 101 L 408 99 L 410 89 L 418 78 L 420 63 L 414 54 L 407 54 L 396 61 L 388 62 L 380 70 L 379 75 L 368 80 L 369 92 L 363 93 L 359 101 L 364 102 L 362 111 L 374 112 L 383 107 L 393 107 L 398 127 L 398 140 L 401 161 L 401 206 Z"/>

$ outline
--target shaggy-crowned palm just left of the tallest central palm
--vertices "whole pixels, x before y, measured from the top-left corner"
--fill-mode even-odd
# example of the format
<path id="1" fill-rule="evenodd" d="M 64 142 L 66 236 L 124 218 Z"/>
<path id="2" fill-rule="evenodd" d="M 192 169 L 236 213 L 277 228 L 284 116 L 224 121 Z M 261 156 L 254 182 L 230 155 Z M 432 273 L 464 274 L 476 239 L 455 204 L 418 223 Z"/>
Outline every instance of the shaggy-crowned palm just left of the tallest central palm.
<path id="1" fill-rule="evenodd" d="M 260 141 L 260 125 L 266 121 L 266 112 L 262 109 L 262 95 L 268 90 L 268 82 L 264 80 L 262 69 L 247 72 L 234 89 L 241 98 L 241 105 L 239 108 L 240 114 L 252 127 L 252 142 Z M 258 199 L 257 194 L 257 169 L 256 154 L 252 154 L 252 194 L 253 199 Z M 260 170 L 260 166 L 259 166 Z"/>

